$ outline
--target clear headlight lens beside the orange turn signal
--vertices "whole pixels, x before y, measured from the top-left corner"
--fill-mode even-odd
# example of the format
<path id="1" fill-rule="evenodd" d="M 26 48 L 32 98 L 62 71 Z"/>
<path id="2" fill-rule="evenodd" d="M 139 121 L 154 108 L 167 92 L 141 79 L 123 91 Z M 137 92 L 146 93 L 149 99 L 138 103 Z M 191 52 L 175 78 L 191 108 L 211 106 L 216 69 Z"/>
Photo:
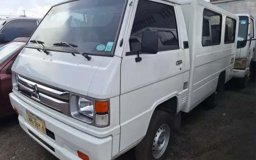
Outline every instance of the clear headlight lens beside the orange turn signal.
<path id="1" fill-rule="evenodd" d="M 83 115 L 87 117 L 93 118 L 94 109 L 93 109 L 93 102 L 83 98 L 78 98 L 78 112 L 82 113 Z"/>

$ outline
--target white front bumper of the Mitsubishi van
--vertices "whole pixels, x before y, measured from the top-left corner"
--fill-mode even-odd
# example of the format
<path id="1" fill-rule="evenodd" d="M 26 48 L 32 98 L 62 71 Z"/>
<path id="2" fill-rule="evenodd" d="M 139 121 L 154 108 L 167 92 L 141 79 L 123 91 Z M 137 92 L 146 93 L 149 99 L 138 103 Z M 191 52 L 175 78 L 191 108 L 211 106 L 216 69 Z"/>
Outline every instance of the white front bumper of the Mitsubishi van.
<path id="1" fill-rule="evenodd" d="M 37 110 L 14 93 L 9 97 L 19 112 L 18 121 L 23 130 L 60 160 L 81 160 L 77 151 L 89 156 L 90 160 L 111 160 L 112 137 L 93 137 Z M 45 121 L 46 129 L 55 135 L 55 140 L 27 122 L 26 110 Z"/>

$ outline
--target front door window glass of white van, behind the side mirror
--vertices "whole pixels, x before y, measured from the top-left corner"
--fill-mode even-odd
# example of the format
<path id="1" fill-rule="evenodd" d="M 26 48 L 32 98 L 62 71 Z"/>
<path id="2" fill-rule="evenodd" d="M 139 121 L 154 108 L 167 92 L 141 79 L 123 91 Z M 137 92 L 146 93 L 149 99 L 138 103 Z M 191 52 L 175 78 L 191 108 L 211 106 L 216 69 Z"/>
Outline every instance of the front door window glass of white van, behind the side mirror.
<path id="1" fill-rule="evenodd" d="M 142 38 L 142 33 L 149 30 L 158 31 L 159 52 L 179 49 L 178 30 L 173 6 L 148 0 L 139 0 L 133 22 L 131 39 L 132 37 Z M 131 51 L 141 48 L 141 45 L 136 45 L 140 47 L 135 49 L 132 46 Z"/>

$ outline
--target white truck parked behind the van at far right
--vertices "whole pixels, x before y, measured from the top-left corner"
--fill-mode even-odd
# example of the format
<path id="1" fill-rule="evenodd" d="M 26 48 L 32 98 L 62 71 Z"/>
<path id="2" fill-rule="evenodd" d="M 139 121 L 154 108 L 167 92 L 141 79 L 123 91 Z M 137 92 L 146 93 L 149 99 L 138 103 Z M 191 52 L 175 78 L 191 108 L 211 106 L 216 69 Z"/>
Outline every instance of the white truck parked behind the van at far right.
<path id="1" fill-rule="evenodd" d="M 255 56 L 255 21 L 249 14 L 236 14 L 239 16 L 238 44 L 234 65 L 233 78 L 241 78 L 241 85 L 248 86 L 251 61 Z"/>

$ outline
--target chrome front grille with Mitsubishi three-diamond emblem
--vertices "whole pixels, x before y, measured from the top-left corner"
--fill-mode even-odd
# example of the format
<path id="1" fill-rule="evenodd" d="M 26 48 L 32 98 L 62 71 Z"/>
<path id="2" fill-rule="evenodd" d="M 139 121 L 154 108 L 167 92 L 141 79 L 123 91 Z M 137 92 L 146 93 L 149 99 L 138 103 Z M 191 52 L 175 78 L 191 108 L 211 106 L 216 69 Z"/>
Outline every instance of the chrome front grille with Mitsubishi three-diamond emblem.
<path id="1" fill-rule="evenodd" d="M 34 82 L 18 75 L 18 91 L 27 97 L 69 116 L 69 92 Z"/>

